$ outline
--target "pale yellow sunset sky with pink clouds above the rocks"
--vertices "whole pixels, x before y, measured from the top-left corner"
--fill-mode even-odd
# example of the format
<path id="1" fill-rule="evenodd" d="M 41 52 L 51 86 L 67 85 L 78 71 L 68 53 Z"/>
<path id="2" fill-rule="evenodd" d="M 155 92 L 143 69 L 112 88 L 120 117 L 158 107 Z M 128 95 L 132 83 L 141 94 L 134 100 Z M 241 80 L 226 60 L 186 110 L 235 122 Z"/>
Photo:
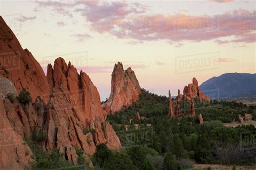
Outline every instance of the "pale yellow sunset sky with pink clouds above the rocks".
<path id="1" fill-rule="evenodd" d="M 44 71 L 61 56 L 101 100 L 114 63 L 158 95 L 224 73 L 256 73 L 255 1 L 0 1 L 0 14 Z"/>

